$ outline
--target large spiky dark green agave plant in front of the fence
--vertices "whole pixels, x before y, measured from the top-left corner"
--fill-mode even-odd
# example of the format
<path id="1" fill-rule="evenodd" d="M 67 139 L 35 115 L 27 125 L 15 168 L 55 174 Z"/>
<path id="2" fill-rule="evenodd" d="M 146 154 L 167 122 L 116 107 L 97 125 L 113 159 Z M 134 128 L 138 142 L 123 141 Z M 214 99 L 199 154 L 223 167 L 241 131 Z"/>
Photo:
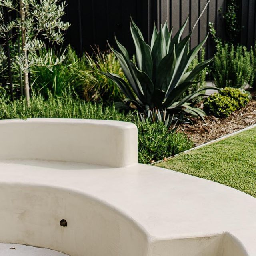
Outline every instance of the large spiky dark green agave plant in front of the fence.
<path id="1" fill-rule="evenodd" d="M 173 37 L 167 23 L 161 25 L 159 31 L 154 26 L 151 45 L 148 45 L 131 19 L 130 30 L 136 48 L 136 64 L 130 60 L 126 48 L 115 38 L 119 51 L 110 48 L 118 58 L 129 83 L 117 74 L 105 73 L 126 96 L 122 104 L 117 104 L 118 107 L 136 106 L 142 116 L 146 118 L 155 116 L 155 120 L 158 121 L 162 120 L 158 117 L 163 116 L 161 114 L 163 112 L 167 112 L 171 117 L 174 116 L 175 118 L 169 118 L 174 121 L 182 112 L 185 113 L 184 117 L 192 114 L 203 118 L 205 113 L 192 106 L 190 100 L 204 95 L 202 91 L 212 87 L 200 88 L 184 98 L 182 95 L 192 84 L 198 82 L 195 82 L 196 77 L 212 59 L 198 64 L 187 72 L 188 66 L 208 37 L 206 36 L 198 46 L 190 50 L 192 31 L 182 39 L 187 23 L 188 19 Z M 157 115 L 154 114 L 156 112 Z"/>

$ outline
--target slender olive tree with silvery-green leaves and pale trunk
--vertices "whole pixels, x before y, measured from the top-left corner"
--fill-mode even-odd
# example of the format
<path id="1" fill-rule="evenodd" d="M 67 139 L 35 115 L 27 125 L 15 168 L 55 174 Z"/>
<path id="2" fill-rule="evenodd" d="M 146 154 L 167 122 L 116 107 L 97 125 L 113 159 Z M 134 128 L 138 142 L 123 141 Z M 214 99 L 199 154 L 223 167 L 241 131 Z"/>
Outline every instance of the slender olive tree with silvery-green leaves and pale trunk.
<path id="1" fill-rule="evenodd" d="M 62 21 L 64 8 L 65 1 L 61 0 L 0 0 L 0 37 L 6 38 L 6 33 L 16 31 L 18 41 L 21 41 L 22 50 L 16 61 L 23 73 L 28 104 L 30 67 L 42 62 L 36 58 L 36 51 L 44 48 L 46 43 L 61 44 L 64 31 L 70 26 Z M 6 9 L 11 19 L 4 17 Z"/>

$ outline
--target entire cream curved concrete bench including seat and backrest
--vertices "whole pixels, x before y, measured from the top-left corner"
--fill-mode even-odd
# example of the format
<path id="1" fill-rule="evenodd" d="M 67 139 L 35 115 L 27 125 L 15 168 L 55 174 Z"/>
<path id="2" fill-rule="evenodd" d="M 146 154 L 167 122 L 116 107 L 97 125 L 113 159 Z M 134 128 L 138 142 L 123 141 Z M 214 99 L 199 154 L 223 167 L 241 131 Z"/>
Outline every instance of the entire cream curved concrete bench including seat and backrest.
<path id="1" fill-rule="evenodd" d="M 255 216 L 247 194 L 138 164 L 133 124 L 0 121 L 0 242 L 71 256 L 255 256 Z"/>

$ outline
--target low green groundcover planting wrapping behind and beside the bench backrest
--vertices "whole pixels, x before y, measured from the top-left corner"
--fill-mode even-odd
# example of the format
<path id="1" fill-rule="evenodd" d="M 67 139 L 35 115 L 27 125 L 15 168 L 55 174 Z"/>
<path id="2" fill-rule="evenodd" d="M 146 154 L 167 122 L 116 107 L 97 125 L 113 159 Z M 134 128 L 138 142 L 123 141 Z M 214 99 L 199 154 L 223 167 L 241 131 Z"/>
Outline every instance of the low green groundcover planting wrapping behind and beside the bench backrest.
<path id="1" fill-rule="evenodd" d="M 178 154 L 193 146 L 185 134 L 169 133 L 161 123 L 142 122 L 136 113 L 123 113 L 115 109 L 114 104 L 88 103 L 79 98 L 53 97 L 51 94 L 45 100 L 42 96 L 31 98 L 30 106 L 26 100 L 6 101 L 0 98 L 0 119 L 27 118 L 81 118 L 103 119 L 133 122 L 138 127 L 139 162 L 149 164 L 152 160 Z"/>

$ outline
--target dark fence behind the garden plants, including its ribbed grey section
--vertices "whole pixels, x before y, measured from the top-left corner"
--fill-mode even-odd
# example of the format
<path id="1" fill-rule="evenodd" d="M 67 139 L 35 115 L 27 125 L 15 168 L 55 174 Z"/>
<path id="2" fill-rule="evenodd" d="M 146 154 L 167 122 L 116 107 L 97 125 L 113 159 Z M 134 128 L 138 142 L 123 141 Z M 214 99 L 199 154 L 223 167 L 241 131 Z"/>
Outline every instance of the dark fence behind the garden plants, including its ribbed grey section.
<path id="1" fill-rule="evenodd" d="M 114 45 L 114 35 L 133 52 L 129 30 L 130 16 L 149 41 L 154 22 L 159 27 L 166 20 L 173 26 L 174 33 L 189 15 L 188 33 L 202 12 L 207 0 L 67 0 L 65 20 L 72 25 L 66 32 L 66 43 L 71 44 L 79 53 L 90 51 L 93 45 L 106 48 L 106 40 Z M 195 46 L 208 33 L 208 23 L 216 26 L 217 35 L 225 37 L 222 18 L 227 0 L 212 0 L 193 32 L 191 46 Z M 238 0 L 239 20 L 242 26 L 240 43 L 248 47 L 256 39 L 255 0 Z M 207 56 L 212 56 L 214 47 L 209 39 L 206 45 Z"/>

